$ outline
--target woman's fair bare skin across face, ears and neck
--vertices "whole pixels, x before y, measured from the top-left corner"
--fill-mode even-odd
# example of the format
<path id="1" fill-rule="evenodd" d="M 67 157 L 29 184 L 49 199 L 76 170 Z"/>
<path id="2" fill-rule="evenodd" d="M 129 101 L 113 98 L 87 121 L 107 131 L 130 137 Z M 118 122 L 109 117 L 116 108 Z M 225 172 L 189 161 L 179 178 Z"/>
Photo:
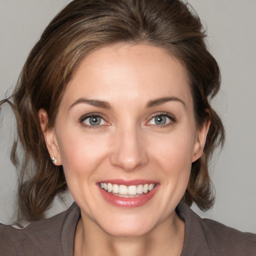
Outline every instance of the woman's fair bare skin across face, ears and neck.
<path id="1" fill-rule="evenodd" d="M 166 96 L 174 100 L 148 106 Z M 88 126 L 89 113 L 103 117 L 100 125 Z M 164 125 L 155 123 L 156 114 L 169 115 Z M 209 121 L 196 128 L 186 70 L 177 59 L 142 44 L 97 49 L 69 82 L 54 128 L 47 129 L 43 109 L 39 118 L 50 157 L 63 165 L 81 209 L 74 255 L 180 255 L 184 222 L 175 207 L 191 163 L 202 154 Z M 100 180 L 117 178 L 154 180 L 157 191 L 142 206 L 120 208 L 98 187 Z"/>

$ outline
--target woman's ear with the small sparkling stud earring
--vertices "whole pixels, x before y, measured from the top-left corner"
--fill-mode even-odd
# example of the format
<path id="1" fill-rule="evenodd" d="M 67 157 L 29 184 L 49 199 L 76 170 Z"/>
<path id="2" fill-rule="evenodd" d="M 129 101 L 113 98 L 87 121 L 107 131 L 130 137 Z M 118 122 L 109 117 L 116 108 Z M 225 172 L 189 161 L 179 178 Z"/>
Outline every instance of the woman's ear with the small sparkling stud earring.
<path id="1" fill-rule="evenodd" d="M 60 153 L 58 149 L 58 143 L 56 138 L 56 132 L 54 128 L 48 128 L 48 114 L 44 109 L 39 109 L 38 111 L 38 117 L 41 125 L 41 129 L 43 132 L 44 140 L 49 152 L 49 157 L 55 157 L 56 162 L 55 165 L 61 165 L 61 158 Z"/>

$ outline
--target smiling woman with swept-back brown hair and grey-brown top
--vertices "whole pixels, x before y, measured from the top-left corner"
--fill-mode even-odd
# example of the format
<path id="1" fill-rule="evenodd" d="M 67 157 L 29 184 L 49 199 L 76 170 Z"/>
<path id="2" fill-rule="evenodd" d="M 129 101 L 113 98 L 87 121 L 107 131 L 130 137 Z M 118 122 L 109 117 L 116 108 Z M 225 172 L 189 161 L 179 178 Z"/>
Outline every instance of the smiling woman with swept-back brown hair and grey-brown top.
<path id="1" fill-rule="evenodd" d="M 3 255 L 255 254 L 256 235 L 188 207 L 212 206 L 207 162 L 224 140 L 203 38 L 178 0 L 74 0 L 50 22 L 12 96 L 19 216 L 34 222 L 0 225 Z M 75 203 L 42 219 L 67 187 Z"/>

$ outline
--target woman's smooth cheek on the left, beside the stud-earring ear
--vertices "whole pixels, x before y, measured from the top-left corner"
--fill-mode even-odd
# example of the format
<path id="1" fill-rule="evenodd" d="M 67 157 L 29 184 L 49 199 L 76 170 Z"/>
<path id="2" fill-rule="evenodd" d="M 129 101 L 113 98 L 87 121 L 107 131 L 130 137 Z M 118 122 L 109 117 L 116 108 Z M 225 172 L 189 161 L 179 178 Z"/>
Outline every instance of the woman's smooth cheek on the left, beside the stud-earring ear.
<path id="1" fill-rule="evenodd" d="M 77 203 L 87 205 L 93 198 L 96 170 L 107 155 L 105 140 L 81 133 L 65 133 L 61 138 L 59 152 L 68 189 Z"/>

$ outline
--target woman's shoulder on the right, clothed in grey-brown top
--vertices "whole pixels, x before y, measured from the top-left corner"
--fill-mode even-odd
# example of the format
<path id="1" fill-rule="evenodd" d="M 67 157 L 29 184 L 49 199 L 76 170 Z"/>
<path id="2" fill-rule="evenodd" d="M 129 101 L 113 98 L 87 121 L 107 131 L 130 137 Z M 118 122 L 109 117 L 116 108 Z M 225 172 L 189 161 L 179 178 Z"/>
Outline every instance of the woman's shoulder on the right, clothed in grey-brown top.
<path id="1" fill-rule="evenodd" d="M 200 218 L 187 205 L 182 207 L 186 247 L 194 250 L 193 255 L 204 251 L 204 255 L 256 256 L 256 234 Z"/>

